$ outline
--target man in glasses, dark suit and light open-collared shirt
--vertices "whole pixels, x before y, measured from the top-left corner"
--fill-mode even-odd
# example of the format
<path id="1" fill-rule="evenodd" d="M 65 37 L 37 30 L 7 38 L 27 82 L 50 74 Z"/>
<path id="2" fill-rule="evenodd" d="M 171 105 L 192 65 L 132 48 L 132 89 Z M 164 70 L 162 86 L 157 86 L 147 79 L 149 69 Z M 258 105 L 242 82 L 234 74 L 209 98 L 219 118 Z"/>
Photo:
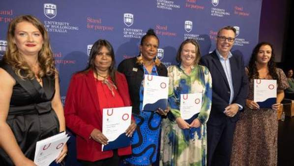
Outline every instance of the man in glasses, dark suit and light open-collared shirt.
<path id="1" fill-rule="evenodd" d="M 207 166 L 229 166 L 238 112 L 245 105 L 248 78 L 243 58 L 233 55 L 235 28 L 220 29 L 216 50 L 201 58 L 212 77 L 212 105 L 207 121 Z"/>

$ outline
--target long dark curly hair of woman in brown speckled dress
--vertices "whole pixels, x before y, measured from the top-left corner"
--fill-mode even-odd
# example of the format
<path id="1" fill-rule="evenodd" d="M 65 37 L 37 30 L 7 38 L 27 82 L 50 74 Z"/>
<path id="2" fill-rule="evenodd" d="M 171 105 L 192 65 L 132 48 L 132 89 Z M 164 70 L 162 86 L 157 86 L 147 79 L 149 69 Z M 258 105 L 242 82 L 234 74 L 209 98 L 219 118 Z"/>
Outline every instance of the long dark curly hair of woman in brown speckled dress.
<path id="1" fill-rule="evenodd" d="M 264 46 L 268 45 L 271 48 L 271 57 L 267 63 L 269 75 L 272 77 L 272 79 L 278 80 L 278 74 L 276 72 L 276 64 L 274 62 L 275 54 L 272 44 L 268 42 L 260 42 L 258 43 L 255 48 L 252 51 L 251 58 L 248 65 L 248 79 L 258 79 L 259 73 L 257 71 L 256 61 L 257 61 L 257 55 L 259 52 L 259 49 Z"/>

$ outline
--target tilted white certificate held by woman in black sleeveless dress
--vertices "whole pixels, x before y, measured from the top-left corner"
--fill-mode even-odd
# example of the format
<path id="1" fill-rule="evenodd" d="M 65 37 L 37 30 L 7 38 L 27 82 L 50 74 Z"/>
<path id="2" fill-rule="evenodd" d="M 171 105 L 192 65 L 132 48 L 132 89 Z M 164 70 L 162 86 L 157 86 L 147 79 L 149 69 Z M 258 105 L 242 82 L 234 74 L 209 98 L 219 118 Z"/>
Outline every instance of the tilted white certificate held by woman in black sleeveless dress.
<path id="1" fill-rule="evenodd" d="M 53 135 L 36 143 L 34 163 L 37 166 L 49 166 L 59 156 L 69 136 L 63 133 Z"/>

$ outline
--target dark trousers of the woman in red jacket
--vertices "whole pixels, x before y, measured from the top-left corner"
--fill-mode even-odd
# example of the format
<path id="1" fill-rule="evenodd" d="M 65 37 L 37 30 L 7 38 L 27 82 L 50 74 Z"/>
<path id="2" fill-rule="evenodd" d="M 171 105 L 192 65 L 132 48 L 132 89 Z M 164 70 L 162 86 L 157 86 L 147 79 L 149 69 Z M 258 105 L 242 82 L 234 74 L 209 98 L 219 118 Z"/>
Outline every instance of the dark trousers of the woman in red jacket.
<path id="1" fill-rule="evenodd" d="M 118 156 L 118 150 L 114 150 L 114 155 L 111 158 L 98 160 L 95 162 L 88 162 L 80 160 L 83 166 L 118 166 L 120 157 Z"/>

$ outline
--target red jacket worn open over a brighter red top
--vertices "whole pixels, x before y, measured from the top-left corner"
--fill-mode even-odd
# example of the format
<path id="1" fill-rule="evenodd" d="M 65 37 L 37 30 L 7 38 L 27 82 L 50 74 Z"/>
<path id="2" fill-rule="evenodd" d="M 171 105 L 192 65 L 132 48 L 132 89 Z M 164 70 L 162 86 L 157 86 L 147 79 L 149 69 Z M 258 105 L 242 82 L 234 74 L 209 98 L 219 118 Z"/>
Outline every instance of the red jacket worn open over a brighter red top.
<path id="1" fill-rule="evenodd" d="M 130 106 L 128 85 L 125 76 L 116 73 L 118 93 L 124 105 Z M 112 151 L 101 151 L 101 144 L 90 138 L 96 128 L 102 131 L 102 113 L 96 91 L 93 71 L 77 73 L 71 78 L 67 91 L 64 115 L 66 126 L 77 135 L 77 158 L 94 162 L 113 156 Z M 131 154 L 131 146 L 118 149 L 118 155 Z"/>

